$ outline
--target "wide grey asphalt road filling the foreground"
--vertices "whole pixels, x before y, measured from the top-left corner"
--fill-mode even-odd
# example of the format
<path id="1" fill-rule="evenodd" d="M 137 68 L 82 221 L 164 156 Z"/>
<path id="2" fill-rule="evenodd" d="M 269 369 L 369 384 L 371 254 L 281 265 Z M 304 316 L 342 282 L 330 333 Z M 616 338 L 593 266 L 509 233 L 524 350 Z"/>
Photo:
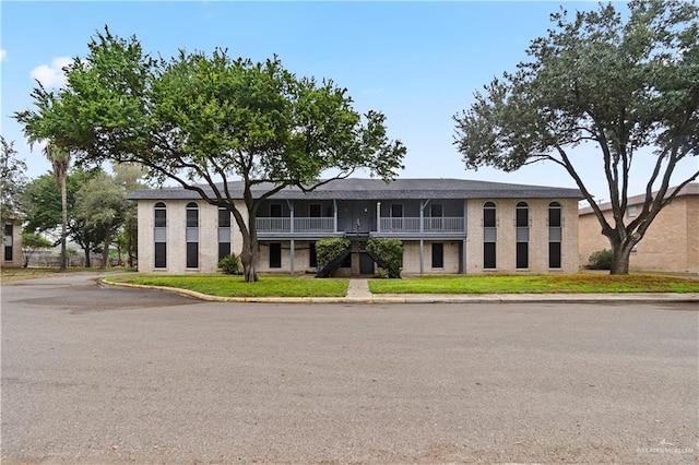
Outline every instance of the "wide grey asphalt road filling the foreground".
<path id="1" fill-rule="evenodd" d="M 699 461 L 691 303 L 1 293 L 3 464 Z"/>

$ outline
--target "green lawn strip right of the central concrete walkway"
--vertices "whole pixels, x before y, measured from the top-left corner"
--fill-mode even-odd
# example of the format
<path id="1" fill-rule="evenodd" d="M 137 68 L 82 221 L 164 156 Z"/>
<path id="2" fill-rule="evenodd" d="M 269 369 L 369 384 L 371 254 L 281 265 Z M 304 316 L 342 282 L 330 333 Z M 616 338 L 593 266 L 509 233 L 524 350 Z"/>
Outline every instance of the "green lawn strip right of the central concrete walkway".
<path id="1" fill-rule="evenodd" d="M 699 281 L 650 274 L 612 276 L 429 276 L 369 282 L 374 294 L 699 293 Z"/>

